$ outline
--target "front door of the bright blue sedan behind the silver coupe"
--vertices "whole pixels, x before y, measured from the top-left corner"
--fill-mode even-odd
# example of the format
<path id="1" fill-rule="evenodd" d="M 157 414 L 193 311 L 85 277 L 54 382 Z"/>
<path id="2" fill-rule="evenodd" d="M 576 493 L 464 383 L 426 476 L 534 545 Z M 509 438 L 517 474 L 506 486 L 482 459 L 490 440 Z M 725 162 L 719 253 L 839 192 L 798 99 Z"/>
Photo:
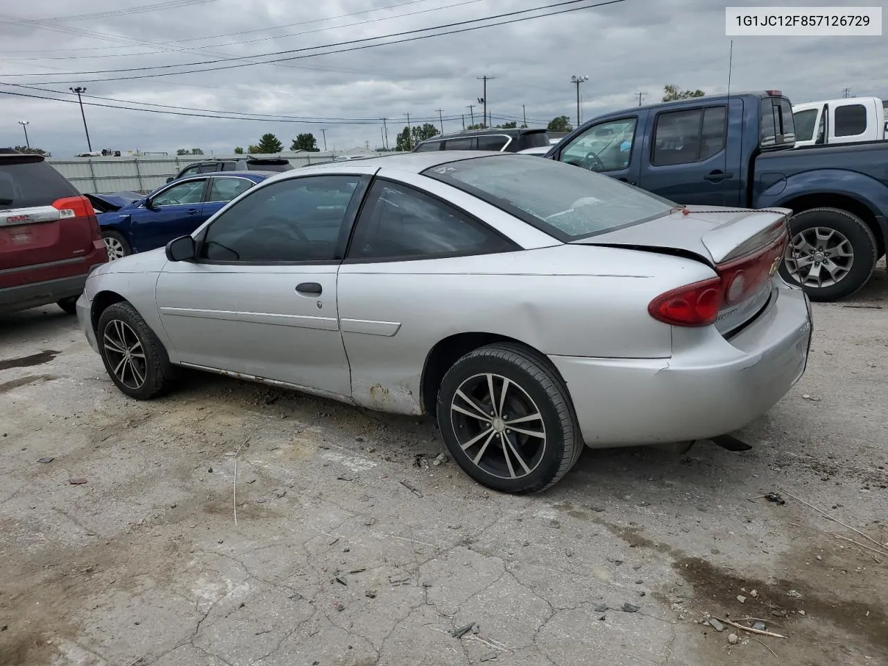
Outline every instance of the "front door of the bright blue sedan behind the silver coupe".
<path id="1" fill-rule="evenodd" d="M 178 236 L 191 234 L 206 219 L 203 194 L 207 178 L 177 180 L 149 196 L 131 214 L 133 250 L 162 248 Z"/>

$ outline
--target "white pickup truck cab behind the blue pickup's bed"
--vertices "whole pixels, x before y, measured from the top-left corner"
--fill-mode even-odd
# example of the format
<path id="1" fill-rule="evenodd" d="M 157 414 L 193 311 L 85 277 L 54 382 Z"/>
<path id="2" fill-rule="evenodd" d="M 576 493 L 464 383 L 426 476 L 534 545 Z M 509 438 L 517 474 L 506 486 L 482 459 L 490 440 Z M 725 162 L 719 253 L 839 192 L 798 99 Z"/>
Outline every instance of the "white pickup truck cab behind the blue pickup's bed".
<path id="1" fill-rule="evenodd" d="M 796 147 L 884 141 L 888 117 L 882 99 L 849 97 L 794 104 Z"/>

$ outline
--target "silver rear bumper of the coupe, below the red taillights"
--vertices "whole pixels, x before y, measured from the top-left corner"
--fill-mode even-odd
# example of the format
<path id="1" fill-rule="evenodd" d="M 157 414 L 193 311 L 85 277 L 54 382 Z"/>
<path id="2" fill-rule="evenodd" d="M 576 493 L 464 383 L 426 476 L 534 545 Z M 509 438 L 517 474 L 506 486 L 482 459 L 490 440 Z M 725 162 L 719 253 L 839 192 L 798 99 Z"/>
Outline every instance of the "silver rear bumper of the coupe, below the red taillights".
<path id="1" fill-rule="evenodd" d="M 811 305 L 774 283 L 757 320 L 730 340 L 712 327 L 675 329 L 669 359 L 551 356 L 592 448 L 703 440 L 735 431 L 805 372 Z"/>

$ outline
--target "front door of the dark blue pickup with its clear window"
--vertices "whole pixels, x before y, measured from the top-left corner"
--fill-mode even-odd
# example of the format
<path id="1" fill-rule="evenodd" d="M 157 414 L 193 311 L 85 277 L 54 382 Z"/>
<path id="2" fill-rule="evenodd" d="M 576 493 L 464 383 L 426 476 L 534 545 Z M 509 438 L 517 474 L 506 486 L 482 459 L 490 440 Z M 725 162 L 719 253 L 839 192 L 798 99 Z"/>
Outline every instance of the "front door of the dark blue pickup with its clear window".
<path id="1" fill-rule="evenodd" d="M 554 158 L 638 185 L 641 163 L 639 128 L 644 128 L 646 115 L 646 111 L 639 111 L 591 125 L 563 146 L 559 144 Z"/>

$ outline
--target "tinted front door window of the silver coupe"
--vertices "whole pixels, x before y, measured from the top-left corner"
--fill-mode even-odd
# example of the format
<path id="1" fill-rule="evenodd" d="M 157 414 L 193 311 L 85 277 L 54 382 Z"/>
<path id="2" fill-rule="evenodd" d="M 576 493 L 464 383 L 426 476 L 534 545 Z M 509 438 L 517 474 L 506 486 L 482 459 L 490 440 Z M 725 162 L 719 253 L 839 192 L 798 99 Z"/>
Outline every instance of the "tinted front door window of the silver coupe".
<path id="1" fill-rule="evenodd" d="M 311 176 L 260 187 L 222 213 L 200 257 L 225 262 L 331 261 L 360 176 Z"/>

